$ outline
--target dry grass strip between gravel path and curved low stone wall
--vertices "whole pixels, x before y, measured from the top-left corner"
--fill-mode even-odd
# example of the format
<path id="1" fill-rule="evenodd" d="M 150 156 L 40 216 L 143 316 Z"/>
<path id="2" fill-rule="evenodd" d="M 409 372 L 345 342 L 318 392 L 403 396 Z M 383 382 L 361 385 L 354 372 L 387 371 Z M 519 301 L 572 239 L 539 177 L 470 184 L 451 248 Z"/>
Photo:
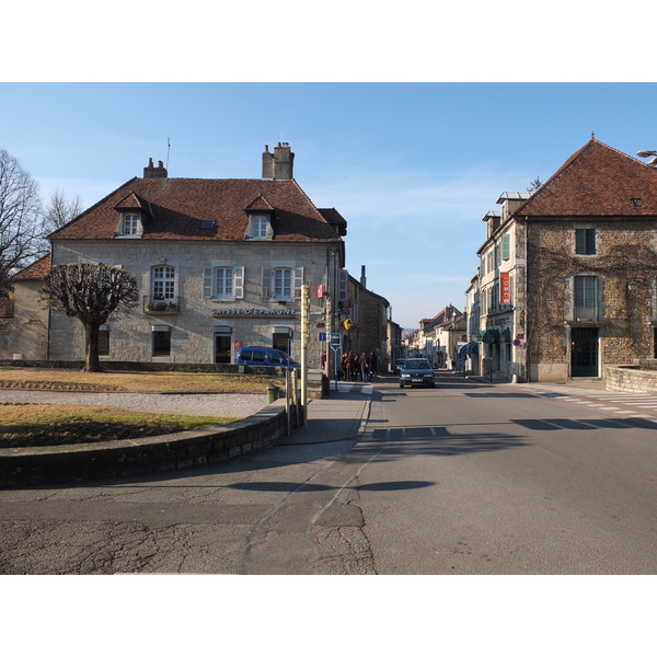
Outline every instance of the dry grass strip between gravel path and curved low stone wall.
<path id="1" fill-rule="evenodd" d="M 110 406 L 0 404 L 0 448 L 134 439 L 228 424 L 235 419 L 145 413 Z"/>

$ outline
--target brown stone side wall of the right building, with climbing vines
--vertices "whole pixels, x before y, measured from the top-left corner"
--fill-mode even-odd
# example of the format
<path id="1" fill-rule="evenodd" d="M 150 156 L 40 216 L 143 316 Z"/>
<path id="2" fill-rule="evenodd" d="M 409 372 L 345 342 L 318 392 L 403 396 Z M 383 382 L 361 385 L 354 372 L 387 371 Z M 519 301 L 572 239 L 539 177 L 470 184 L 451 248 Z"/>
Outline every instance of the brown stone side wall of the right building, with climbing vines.
<path id="1" fill-rule="evenodd" d="M 576 228 L 596 228 L 596 253 L 575 253 Z M 596 327 L 600 372 L 653 353 L 656 232 L 633 220 L 532 221 L 529 228 L 528 344 L 532 380 L 570 362 L 570 330 Z M 574 277 L 598 278 L 598 316 L 574 313 Z M 555 379 L 556 380 L 556 379 Z"/>

